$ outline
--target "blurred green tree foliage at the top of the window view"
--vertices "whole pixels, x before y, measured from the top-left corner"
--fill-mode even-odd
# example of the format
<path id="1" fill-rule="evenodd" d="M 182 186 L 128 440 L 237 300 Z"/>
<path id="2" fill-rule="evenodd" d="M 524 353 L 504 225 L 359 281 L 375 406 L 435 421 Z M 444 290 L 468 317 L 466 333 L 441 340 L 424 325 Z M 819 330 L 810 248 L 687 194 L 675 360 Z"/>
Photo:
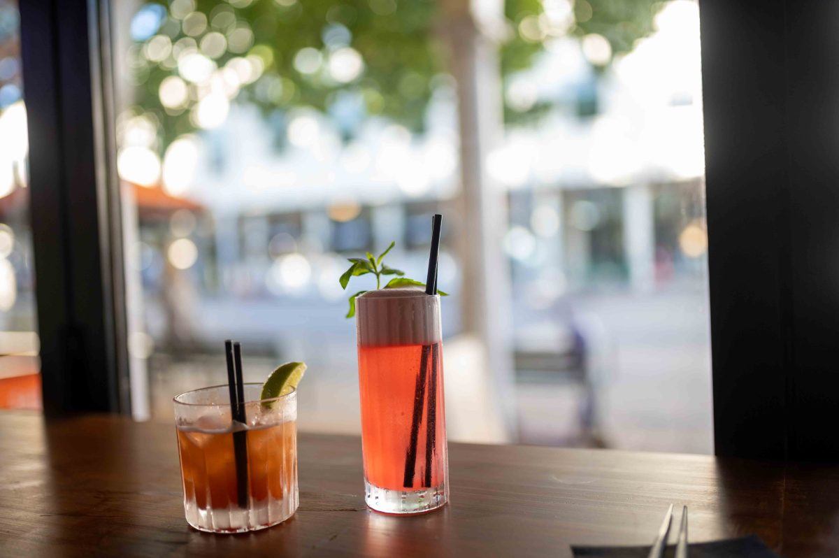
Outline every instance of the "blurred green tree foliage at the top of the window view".
<path id="1" fill-rule="evenodd" d="M 501 70 L 510 76 L 529 68 L 546 41 L 567 34 L 598 34 L 611 55 L 628 52 L 653 30 L 659 3 L 506 0 L 504 6 Z M 451 81 L 439 14 L 438 0 L 143 3 L 132 21 L 128 60 L 138 84 L 136 110 L 161 124 L 161 148 L 223 122 L 228 99 L 253 104 L 280 124 L 289 108 L 312 107 L 331 114 L 345 138 L 365 115 L 421 132 L 435 88 Z M 505 120 L 538 117 L 549 106 L 507 106 Z"/>

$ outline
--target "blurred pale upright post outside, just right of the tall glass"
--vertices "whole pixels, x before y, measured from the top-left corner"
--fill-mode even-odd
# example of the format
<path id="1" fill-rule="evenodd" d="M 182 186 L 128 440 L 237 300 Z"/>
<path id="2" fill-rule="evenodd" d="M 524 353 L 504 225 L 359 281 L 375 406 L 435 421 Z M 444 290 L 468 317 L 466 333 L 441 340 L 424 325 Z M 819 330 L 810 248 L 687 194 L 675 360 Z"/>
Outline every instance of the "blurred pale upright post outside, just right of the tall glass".
<path id="1" fill-rule="evenodd" d="M 442 8 L 458 96 L 461 193 L 449 227 L 463 265 L 463 330 L 481 342 L 492 399 L 510 438 L 515 431 L 511 297 L 502 251 L 507 201 L 484 164 L 503 135 L 498 44 L 484 33 L 493 29 L 493 18 L 500 21 L 503 3 L 445 0 Z"/>

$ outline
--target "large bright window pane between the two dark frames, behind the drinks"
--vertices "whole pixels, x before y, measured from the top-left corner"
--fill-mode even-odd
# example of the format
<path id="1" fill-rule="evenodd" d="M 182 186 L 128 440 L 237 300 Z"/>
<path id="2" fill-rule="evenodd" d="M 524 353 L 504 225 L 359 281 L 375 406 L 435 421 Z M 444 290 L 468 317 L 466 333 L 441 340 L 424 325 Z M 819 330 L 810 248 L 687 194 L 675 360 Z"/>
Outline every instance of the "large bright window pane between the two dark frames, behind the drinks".
<path id="1" fill-rule="evenodd" d="M 472 420 L 494 425 L 483 441 L 710 452 L 696 3 L 507 0 L 478 16 L 506 18 L 500 45 L 491 26 L 441 34 L 439 6 L 119 4 L 135 415 L 222 383 L 233 337 L 248 380 L 309 362 L 301 429 L 356 431 L 344 258 L 394 240 L 422 277 L 442 212 L 451 353 L 487 344 L 475 280 L 512 309 L 488 326 L 508 331 L 510 374 L 466 358 L 465 377 L 516 408 L 454 412 L 452 439 Z M 498 242 L 470 233 L 495 210 Z"/>

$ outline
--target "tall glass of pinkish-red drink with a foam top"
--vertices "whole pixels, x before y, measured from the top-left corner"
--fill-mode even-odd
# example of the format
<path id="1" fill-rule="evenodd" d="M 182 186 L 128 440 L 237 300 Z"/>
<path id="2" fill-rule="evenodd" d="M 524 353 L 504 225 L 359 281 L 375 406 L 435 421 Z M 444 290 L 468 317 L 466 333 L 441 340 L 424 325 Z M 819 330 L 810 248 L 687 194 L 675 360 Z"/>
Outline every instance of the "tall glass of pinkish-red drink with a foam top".
<path id="1" fill-rule="evenodd" d="M 365 500 L 420 514 L 449 499 L 440 296 L 380 289 L 356 300 Z"/>

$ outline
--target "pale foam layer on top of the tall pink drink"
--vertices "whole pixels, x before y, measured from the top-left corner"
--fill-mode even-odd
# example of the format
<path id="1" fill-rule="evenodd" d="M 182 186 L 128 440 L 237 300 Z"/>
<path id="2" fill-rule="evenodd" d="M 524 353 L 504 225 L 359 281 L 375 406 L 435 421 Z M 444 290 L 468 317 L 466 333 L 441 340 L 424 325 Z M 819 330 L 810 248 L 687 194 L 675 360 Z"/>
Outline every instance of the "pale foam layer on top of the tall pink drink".
<path id="1" fill-rule="evenodd" d="M 417 288 L 378 289 L 356 300 L 358 344 L 431 345 L 440 342 L 440 306 Z"/>

